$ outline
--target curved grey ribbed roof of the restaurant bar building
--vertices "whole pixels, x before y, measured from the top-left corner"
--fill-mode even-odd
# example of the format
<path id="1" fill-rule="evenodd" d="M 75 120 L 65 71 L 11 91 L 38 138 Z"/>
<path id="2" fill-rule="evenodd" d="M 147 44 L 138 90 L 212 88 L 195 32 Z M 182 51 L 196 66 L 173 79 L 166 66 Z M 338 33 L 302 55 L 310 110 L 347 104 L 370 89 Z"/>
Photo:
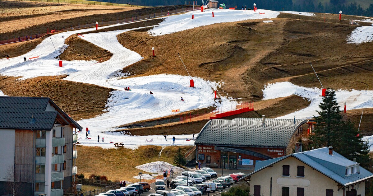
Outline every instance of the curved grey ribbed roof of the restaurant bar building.
<path id="1" fill-rule="evenodd" d="M 266 118 L 212 119 L 202 128 L 195 144 L 222 146 L 287 147 L 305 120 Z"/>

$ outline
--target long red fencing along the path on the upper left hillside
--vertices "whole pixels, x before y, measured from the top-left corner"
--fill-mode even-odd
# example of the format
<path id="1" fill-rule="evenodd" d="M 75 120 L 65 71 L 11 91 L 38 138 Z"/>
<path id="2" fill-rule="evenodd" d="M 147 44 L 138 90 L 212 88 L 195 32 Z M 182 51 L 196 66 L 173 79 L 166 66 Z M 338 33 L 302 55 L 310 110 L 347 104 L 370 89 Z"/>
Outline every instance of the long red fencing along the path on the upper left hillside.
<path id="1" fill-rule="evenodd" d="M 142 21 L 142 20 L 145 20 L 145 19 L 151 19 L 151 18 L 156 18 L 156 17 L 160 17 L 160 16 L 167 16 L 168 14 L 171 15 L 171 14 L 176 14 L 176 13 L 188 12 L 188 11 L 191 11 L 191 10 L 193 10 L 193 8 L 188 7 L 188 8 L 175 9 L 175 10 L 166 10 L 164 12 L 153 13 L 153 14 L 149 14 L 149 15 L 125 16 L 126 18 L 121 19 L 121 20 L 116 20 L 116 21 L 107 21 L 107 22 L 98 21 L 98 27 L 103 27 L 103 26 L 107 26 L 107 25 L 114 25 L 114 24 L 119 24 L 119 23 Z M 197 8 L 195 7 L 194 10 L 197 10 Z M 74 27 L 70 26 L 69 28 L 63 28 L 63 29 L 57 29 L 57 28 L 54 28 L 54 27 L 50 27 L 50 28 L 45 29 L 45 32 L 43 32 L 43 33 L 38 32 L 38 38 L 40 38 L 43 35 L 46 35 L 48 33 L 51 33 L 51 30 L 55 30 L 53 32 L 59 32 L 59 31 L 68 31 L 68 30 L 74 30 L 74 29 L 76 30 L 76 29 L 93 28 L 93 27 L 96 27 L 96 21 L 93 21 L 90 24 L 84 24 L 84 25 L 78 24 Z M 27 36 L 28 36 L 28 39 L 26 38 L 26 35 L 24 35 L 22 37 L 20 36 L 20 40 L 21 41 L 28 41 L 28 40 L 30 40 L 30 36 L 32 36 L 32 38 L 36 38 L 36 33 L 33 34 L 33 35 L 27 35 Z M 7 38 L 7 39 L 6 40 L 1 40 L 0 44 L 19 42 L 18 37 L 13 37 L 13 38 L 4 37 L 4 38 Z"/>

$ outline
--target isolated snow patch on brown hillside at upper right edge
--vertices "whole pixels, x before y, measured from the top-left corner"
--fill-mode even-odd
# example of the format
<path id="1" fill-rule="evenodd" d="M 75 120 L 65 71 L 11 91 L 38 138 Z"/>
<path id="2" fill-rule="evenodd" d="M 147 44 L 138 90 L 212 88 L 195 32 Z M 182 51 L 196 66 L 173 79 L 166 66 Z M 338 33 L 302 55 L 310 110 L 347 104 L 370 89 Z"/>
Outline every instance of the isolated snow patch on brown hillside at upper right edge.
<path id="1" fill-rule="evenodd" d="M 373 25 L 355 28 L 354 31 L 347 36 L 347 41 L 350 44 L 362 44 L 364 42 L 373 41 Z"/>

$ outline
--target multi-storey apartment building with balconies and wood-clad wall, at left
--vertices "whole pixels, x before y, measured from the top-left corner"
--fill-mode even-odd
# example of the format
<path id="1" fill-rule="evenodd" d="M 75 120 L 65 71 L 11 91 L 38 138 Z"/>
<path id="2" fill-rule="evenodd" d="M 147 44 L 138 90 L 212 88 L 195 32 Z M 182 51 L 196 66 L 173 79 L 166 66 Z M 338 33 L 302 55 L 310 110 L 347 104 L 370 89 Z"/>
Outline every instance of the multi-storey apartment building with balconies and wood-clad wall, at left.
<path id="1" fill-rule="evenodd" d="M 81 129 L 47 97 L 0 97 L 0 195 L 63 196 Z"/>

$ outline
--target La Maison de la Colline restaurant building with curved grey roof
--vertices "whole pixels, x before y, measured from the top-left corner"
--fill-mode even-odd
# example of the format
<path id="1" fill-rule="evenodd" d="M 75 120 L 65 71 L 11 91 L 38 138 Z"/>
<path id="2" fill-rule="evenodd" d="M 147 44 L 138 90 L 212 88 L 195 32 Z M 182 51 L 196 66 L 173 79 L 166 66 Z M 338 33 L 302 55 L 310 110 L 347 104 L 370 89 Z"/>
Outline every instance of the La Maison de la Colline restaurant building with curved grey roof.
<path id="1" fill-rule="evenodd" d="M 211 119 L 195 140 L 196 159 L 203 167 L 254 169 L 256 162 L 293 153 L 297 140 L 307 134 L 307 122 L 265 116 Z"/>

